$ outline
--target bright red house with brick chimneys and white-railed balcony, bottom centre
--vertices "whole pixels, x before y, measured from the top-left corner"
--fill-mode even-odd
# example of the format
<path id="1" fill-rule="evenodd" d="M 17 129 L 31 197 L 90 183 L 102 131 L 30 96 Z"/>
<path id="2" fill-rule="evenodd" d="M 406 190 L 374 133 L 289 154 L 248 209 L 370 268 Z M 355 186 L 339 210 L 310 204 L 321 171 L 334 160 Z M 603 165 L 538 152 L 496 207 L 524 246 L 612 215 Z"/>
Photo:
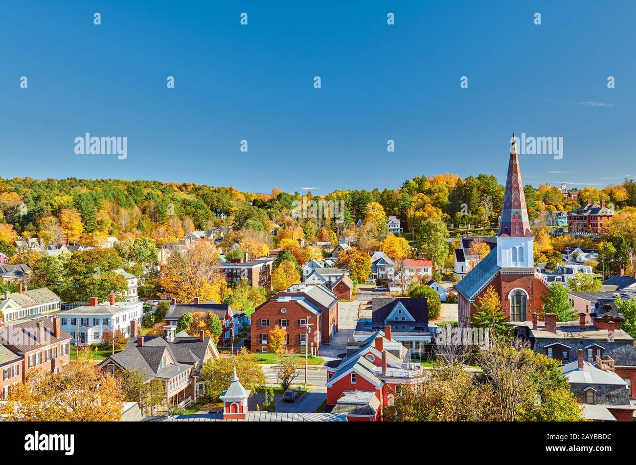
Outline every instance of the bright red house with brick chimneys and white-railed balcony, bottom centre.
<path id="1" fill-rule="evenodd" d="M 424 372 L 410 363 L 406 349 L 391 339 L 391 327 L 378 331 L 348 355 L 327 368 L 327 405 L 347 414 L 347 421 L 383 421 L 384 407 L 392 405 L 400 384 L 420 384 Z"/>

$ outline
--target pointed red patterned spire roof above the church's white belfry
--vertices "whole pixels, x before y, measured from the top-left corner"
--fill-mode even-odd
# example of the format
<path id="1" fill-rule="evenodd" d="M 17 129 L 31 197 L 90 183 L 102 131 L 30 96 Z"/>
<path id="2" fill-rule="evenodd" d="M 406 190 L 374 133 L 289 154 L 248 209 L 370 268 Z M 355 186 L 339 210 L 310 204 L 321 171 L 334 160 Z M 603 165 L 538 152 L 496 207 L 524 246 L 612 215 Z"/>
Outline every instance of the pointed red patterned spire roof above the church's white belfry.
<path id="1" fill-rule="evenodd" d="M 508 177 L 506 178 L 506 193 L 504 194 L 504 207 L 501 212 L 501 223 L 497 236 L 506 237 L 532 237 L 528 210 L 525 206 L 523 194 L 523 182 L 519 168 L 519 156 L 516 151 L 516 139 L 513 134 L 513 143 L 510 147 L 510 161 L 508 164 Z"/>

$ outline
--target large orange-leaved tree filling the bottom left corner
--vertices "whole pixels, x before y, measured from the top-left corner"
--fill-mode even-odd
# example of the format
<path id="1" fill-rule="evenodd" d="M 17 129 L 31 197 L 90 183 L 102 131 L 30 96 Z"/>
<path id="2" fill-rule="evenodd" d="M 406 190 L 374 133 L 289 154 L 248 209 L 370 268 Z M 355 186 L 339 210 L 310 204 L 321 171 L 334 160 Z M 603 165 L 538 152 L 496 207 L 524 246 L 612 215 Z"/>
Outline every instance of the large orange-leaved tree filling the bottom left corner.
<path id="1" fill-rule="evenodd" d="M 60 371 L 31 370 L 0 415 L 8 421 L 120 421 L 124 394 L 116 378 L 87 358 Z"/>

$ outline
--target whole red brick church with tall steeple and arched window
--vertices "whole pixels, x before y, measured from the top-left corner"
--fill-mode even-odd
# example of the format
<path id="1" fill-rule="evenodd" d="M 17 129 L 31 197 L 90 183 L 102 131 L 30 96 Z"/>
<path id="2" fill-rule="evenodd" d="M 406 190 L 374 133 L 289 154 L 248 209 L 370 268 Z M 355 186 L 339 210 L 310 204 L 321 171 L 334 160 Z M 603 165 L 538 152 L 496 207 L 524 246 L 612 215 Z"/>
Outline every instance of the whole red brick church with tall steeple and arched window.
<path id="1" fill-rule="evenodd" d="M 468 324 L 490 285 L 499 293 L 502 309 L 510 321 L 532 321 L 532 312 L 543 308 L 548 283 L 534 271 L 534 236 L 530 231 L 514 135 L 497 246 L 456 286 L 460 324 Z"/>

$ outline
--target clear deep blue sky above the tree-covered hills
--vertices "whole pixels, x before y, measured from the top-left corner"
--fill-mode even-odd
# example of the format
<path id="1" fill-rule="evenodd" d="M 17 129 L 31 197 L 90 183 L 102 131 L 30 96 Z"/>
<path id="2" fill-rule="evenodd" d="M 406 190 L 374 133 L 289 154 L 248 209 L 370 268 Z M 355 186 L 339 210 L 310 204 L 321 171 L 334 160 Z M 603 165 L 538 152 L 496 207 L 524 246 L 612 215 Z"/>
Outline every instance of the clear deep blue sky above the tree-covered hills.
<path id="1" fill-rule="evenodd" d="M 526 184 L 636 175 L 633 1 L 296 3 L 3 4 L 0 176 L 314 194 L 501 181 L 513 131 L 563 137 L 560 160 L 522 156 Z M 87 132 L 128 137 L 128 158 L 75 154 Z"/>

